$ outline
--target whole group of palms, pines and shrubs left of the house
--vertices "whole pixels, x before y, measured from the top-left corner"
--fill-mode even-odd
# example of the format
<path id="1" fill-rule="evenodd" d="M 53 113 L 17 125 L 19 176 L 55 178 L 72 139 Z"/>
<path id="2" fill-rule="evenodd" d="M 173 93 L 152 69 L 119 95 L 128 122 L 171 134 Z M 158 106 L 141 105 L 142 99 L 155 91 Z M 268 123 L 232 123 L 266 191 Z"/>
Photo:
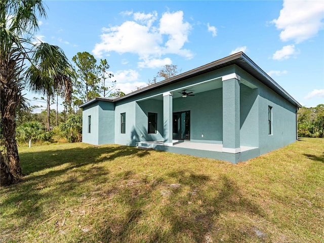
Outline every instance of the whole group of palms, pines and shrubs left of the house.
<path id="1" fill-rule="evenodd" d="M 47 140 L 53 137 L 51 131 L 54 130 L 70 141 L 80 140 L 80 136 L 75 137 L 74 134 L 82 128 L 82 118 L 74 108 L 97 96 L 125 95 L 120 90 L 112 92 L 116 81 L 111 82 L 113 74 L 108 71 L 109 65 L 105 59 L 97 65 L 91 54 L 77 53 L 72 58 L 74 68 L 60 47 L 44 42 L 33 43 L 39 29 L 38 17 L 47 17 L 42 0 L 0 1 L 2 185 L 22 176 L 17 138 L 20 141 Z M 42 100 L 47 107 L 45 125 L 31 114 L 23 95 L 25 87 L 44 96 Z M 65 121 L 60 123 L 56 109 L 56 129 L 51 126 L 51 105 L 55 97 L 57 107 L 59 97 L 64 99 L 65 106 Z"/>

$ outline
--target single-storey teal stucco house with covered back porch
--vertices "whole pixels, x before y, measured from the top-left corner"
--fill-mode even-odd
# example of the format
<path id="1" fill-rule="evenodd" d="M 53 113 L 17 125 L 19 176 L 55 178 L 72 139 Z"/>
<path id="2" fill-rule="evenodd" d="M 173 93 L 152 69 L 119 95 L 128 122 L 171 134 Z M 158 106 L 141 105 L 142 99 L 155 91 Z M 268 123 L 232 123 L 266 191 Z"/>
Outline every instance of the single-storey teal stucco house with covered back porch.
<path id="1" fill-rule="evenodd" d="M 297 139 L 301 105 L 239 52 L 83 108 L 83 142 L 245 161 Z"/>

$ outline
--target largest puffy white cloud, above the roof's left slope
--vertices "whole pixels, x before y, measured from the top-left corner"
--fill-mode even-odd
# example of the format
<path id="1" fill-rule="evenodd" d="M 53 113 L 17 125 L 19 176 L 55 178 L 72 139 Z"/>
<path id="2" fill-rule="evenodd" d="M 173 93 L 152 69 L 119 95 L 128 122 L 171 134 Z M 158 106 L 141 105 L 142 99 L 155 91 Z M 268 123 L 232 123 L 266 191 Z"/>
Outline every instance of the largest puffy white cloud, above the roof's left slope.
<path id="1" fill-rule="evenodd" d="M 131 13 L 128 12 L 128 15 Z M 191 25 L 183 21 L 183 12 L 166 12 L 157 21 L 157 13 L 134 13 L 134 21 L 126 21 L 119 26 L 102 28 L 101 42 L 93 49 L 96 57 L 102 57 L 109 52 L 133 53 L 139 56 L 139 65 L 151 67 L 147 60 L 170 62 L 163 55 L 176 54 L 192 58 L 190 50 L 183 49 L 188 42 Z M 155 25 L 154 25 L 155 23 Z M 164 41 L 167 39 L 167 41 Z"/>

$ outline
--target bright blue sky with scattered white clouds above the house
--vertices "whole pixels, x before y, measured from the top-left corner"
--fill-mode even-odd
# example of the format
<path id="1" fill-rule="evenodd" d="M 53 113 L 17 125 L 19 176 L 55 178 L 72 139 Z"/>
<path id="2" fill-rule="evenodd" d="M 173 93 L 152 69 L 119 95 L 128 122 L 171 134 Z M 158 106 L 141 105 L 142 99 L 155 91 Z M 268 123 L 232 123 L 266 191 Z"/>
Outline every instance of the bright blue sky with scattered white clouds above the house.
<path id="1" fill-rule="evenodd" d="M 39 19 L 34 41 L 61 47 L 72 64 L 77 52 L 91 53 L 98 64 L 106 59 L 126 94 L 166 64 L 182 73 L 243 51 L 301 105 L 324 103 L 324 1 L 45 4 L 47 19 Z"/>

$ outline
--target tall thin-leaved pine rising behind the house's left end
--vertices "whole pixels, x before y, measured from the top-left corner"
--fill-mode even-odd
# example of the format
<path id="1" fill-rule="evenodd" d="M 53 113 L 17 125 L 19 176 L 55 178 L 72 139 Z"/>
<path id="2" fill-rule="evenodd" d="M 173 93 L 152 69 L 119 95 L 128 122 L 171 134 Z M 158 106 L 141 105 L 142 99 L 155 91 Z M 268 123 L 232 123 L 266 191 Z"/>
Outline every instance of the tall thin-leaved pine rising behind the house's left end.
<path id="1" fill-rule="evenodd" d="M 73 93 L 77 95 L 82 103 L 98 97 L 100 79 L 98 78 L 97 60 L 88 52 L 78 52 L 72 58 L 72 61 L 77 66 L 77 78 L 73 84 Z"/>

